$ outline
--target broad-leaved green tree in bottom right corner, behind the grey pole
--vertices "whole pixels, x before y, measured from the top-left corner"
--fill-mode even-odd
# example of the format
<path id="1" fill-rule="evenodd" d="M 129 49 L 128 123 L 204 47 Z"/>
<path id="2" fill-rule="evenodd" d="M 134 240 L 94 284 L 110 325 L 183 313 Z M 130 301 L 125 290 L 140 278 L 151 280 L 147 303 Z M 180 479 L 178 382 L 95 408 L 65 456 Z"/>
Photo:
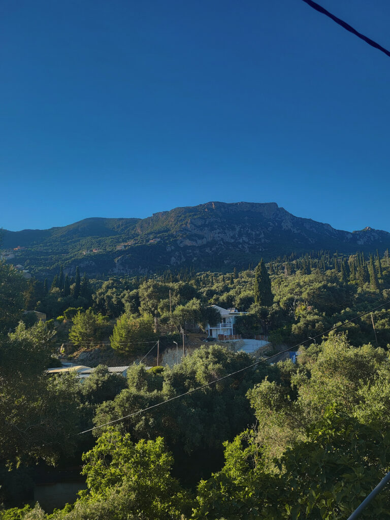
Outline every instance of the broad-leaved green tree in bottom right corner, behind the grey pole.
<path id="1" fill-rule="evenodd" d="M 244 432 L 225 447 L 223 470 L 198 487 L 194 519 L 330 520 L 349 516 L 388 471 L 390 435 L 333 406 L 272 471 L 264 465 L 255 432 Z M 361 518 L 385 517 L 389 499 L 387 489 Z"/>

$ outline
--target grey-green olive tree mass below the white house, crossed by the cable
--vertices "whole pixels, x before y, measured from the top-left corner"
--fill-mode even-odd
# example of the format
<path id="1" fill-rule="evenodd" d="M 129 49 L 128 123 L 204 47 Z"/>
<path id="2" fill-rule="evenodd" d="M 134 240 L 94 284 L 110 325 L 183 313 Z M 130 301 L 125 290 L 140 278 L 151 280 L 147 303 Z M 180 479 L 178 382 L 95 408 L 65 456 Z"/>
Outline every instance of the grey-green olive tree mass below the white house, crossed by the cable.
<path id="1" fill-rule="evenodd" d="M 124 417 L 142 408 L 193 388 L 214 381 L 220 376 L 250 365 L 251 356 L 234 353 L 218 346 L 202 346 L 172 369 L 165 367 L 159 374 L 131 367 L 127 372 L 129 388 L 111 402 L 98 406 L 95 424 L 100 425 Z M 156 408 L 152 415 L 135 415 L 121 421 L 116 428 L 130 432 L 136 439 L 161 435 L 170 449 L 184 454 L 208 450 L 210 457 L 220 453 L 222 442 L 237 435 L 254 421 L 245 393 L 261 381 L 266 368 L 239 373 L 203 388 L 186 398 Z M 271 369 L 272 370 L 272 369 Z M 99 435 L 104 428 L 96 431 Z"/>

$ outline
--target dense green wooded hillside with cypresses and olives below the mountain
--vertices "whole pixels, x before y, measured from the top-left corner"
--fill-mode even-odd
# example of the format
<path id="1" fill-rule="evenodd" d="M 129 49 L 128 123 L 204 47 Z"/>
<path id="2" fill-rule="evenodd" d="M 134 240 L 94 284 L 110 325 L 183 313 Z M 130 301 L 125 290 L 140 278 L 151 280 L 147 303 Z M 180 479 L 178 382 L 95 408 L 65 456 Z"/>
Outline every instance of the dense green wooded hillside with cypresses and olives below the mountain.
<path id="1" fill-rule="evenodd" d="M 390 470 L 390 261 L 379 251 L 106 280 L 59 266 L 51 283 L 1 262 L 0 514 L 347 518 Z M 236 322 L 243 337 L 268 336 L 260 363 L 226 344 L 202 345 L 172 367 L 139 362 L 153 342 L 174 347 L 181 330 L 218 322 L 212 304 L 246 311 Z M 48 376 L 62 343 L 70 355 L 105 348 L 135 362 L 127 378 L 103 365 L 83 383 Z M 295 363 L 267 360 L 288 347 Z M 70 458 L 88 489 L 44 511 L 27 484 L 34 464 Z M 389 505 L 385 489 L 361 518 L 385 518 Z"/>

